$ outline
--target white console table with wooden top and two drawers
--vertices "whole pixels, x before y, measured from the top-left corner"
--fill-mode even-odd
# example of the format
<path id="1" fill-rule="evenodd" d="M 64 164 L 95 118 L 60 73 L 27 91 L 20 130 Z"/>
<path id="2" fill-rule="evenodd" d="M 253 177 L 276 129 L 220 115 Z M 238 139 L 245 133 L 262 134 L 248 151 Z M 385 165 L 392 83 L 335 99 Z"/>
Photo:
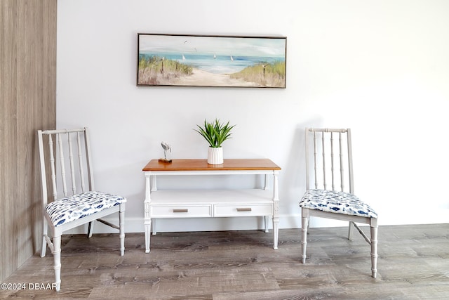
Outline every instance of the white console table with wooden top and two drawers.
<path id="1" fill-rule="evenodd" d="M 173 159 L 171 163 L 152 159 L 142 169 L 145 174 L 145 252 L 149 253 L 152 219 L 229 216 L 264 216 L 266 231 L 267 218 L 271 216 L 273 248 L 278 249 L 280 170 L 270 159 L 225 159 L 223 164 L 208 164 L 207 159 Z M 157 176 L 170 175 L 264 175 L 264 188 L 158 190 Z M 267 186 L 269 175 L 273 176 L 272 192 Z"/>

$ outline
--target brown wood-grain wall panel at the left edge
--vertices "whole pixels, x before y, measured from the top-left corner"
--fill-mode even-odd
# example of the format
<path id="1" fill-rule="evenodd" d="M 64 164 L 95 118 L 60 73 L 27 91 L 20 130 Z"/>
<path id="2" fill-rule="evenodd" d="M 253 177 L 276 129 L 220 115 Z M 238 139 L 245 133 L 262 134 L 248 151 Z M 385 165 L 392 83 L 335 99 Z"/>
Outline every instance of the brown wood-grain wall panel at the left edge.
<path id="1" fill-rule="evenodd" d="M 0 0 L 0 282 L 41 241 L 37 129 L 56 126 L 57 0 Z"/>

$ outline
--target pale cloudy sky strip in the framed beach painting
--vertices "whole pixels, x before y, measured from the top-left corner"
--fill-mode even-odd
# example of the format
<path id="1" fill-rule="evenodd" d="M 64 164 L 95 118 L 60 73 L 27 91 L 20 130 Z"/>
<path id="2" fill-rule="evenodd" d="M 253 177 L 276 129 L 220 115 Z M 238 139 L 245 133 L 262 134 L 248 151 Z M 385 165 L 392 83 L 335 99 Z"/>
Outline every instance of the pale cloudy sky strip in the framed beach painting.
<path id="1" fill-rule="evenodd" d="M 175 35 L 139 35 L 139 51 L 153 53 L 215 53 L 231 56 L 284 57 L 285 38 L 190 37 Z"/>

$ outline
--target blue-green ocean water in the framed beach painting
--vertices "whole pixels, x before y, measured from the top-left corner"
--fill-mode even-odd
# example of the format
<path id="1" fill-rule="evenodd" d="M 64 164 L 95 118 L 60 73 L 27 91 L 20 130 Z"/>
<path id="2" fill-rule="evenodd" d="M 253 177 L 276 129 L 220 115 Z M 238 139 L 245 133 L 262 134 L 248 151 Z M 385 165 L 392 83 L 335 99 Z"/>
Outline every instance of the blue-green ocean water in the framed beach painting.
<path id="1" fill-rule="evenodd" d="M 223 56 L 198 53 L 156 53 L 152 51 L 140 51 L 142 56 L 158 56 L 160 58 L 175 60 L 178 63 L 190 65 L 196 69 L 215 74 L 232 74 L 240 72 L 246 67 L 259 63 L 283 62 L 284 58 L 271 58 L 261 56 Z"/>

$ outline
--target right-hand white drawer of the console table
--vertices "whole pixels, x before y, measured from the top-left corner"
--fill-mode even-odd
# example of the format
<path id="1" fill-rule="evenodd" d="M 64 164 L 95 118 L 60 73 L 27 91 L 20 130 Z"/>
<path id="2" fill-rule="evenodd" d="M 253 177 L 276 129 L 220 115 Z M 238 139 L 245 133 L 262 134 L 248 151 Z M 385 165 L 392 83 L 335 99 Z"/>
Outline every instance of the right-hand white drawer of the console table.
<path id="1" fill-rule="evenodd" d="M 273 204 L 215 204 L 214 216 L 267 216 L 273 214 Z"/>

